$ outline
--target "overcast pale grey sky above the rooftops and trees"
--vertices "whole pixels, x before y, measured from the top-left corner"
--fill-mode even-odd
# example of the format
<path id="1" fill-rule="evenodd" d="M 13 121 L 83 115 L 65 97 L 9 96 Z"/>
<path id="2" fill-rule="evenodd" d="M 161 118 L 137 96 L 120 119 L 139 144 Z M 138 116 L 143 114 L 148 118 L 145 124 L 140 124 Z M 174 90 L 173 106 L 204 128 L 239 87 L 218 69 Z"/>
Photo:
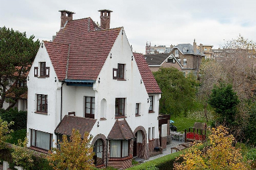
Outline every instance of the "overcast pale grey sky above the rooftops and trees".
<path id="1" fill-rule="evenodd" d="M 133 51 L 151 46 L 190 43 L 213 45 L 244 38 L 256 41 L 256 0 L 0 0 L 0 26 L 50 40 L 60 29 L 59 10 L 75 12 L 73 19 L 100 23 L 98 10 L 112 10 L 110 27 L 124 27 Z"/>

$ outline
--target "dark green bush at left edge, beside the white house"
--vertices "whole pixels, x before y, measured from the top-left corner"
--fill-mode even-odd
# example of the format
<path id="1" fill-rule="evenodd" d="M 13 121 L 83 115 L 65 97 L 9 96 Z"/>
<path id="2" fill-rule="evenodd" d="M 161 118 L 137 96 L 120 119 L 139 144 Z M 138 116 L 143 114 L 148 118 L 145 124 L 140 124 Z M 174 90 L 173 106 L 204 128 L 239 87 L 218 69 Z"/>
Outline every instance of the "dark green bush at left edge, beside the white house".
<path id="1" fill-rule="evenodd" d="M 14 124 L 10 126 L 10 129 L 13 129 L 13 131 L 27 128 L 26 111 L 19 111 L 16 107 L 10 110 L 0 109 L 0 117 L 8 123 L 14 121 Z"/>

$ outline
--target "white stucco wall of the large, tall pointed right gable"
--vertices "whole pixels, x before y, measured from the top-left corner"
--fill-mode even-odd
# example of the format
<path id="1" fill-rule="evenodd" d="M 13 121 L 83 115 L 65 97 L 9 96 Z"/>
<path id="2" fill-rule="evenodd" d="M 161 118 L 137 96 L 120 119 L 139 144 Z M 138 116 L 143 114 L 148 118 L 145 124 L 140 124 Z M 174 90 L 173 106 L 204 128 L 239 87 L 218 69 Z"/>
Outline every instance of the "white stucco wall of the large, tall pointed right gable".
<path id="1" fill-rule="evenodd" d="M 98 80 L 94 83 L 94 90 L 96 90 L 96 108 L 95 108 L 95 118 L 98 118 L 99 127 L 94 126 L 91 130 L 92 135 L 104 134 L 106 137 L 111 131 L 113 124 L 115 123 L 115 98 L 126 98 L 125 106 L 125 115 L 127 123 L 129 123 L 132 131 L 138 126 L 143 126 L 147 132 L 148 136 L 148 127 L 155 127 L 155 138 L 158 138 L 158 99 L 159 94 L 154 95 L 154 113 L 148 112 L 149 95 L 146 92 L 144 84 L 141 84 L 141 75 L 138 70 L 137 63 L 133 56 L 132 50 L 130 49 L 130 44 L 127 40 L 126 33 L 122 35 L 122 30 L 119 33 L 118 38 L 115 41 L 115 44 L 110 51 L 112 53 L 112 58 L 110 54 L 105 61 L 104 66 L 102 67 L 101 72 L 99 73 L 100 83 Z M 132 61 L 133 56 L 133 61 Z M 125 79 L 126 81 L 113 80 L 113 68 L 118 67 L 118 63 L 126 64 Z M 101 115 L 101 100 L 105 98 L 107 101 L 107 120 L 99 120 Z M 135 117 L 135 107 L 136 103 L 140 104 L 140 117 Z M 123 119 L 119 119 L 123 120 Z M 98 123 L 97 121 L 97 123 Z M 152 129 L 152 128 L 151 128 Z M 152 131 L 152 130 L 151 130 Z M 151 132 L 152 133 L 152 132 Z"/>

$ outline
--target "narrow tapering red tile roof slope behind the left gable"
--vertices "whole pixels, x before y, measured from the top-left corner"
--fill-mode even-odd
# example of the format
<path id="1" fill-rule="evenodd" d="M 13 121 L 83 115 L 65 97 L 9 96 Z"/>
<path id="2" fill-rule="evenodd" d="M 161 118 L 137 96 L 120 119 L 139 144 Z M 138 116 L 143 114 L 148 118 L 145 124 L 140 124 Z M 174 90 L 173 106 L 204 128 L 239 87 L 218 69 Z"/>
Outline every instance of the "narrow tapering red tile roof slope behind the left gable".
<path id="1" fill-rule="evenodd" d="M 55 42 L 43 42 L 57 77 L 59 80 L 64 80 L 66 77 L 66 63 L 68 61 L 69 46 L 67 44 L 59 44 Z"/>

